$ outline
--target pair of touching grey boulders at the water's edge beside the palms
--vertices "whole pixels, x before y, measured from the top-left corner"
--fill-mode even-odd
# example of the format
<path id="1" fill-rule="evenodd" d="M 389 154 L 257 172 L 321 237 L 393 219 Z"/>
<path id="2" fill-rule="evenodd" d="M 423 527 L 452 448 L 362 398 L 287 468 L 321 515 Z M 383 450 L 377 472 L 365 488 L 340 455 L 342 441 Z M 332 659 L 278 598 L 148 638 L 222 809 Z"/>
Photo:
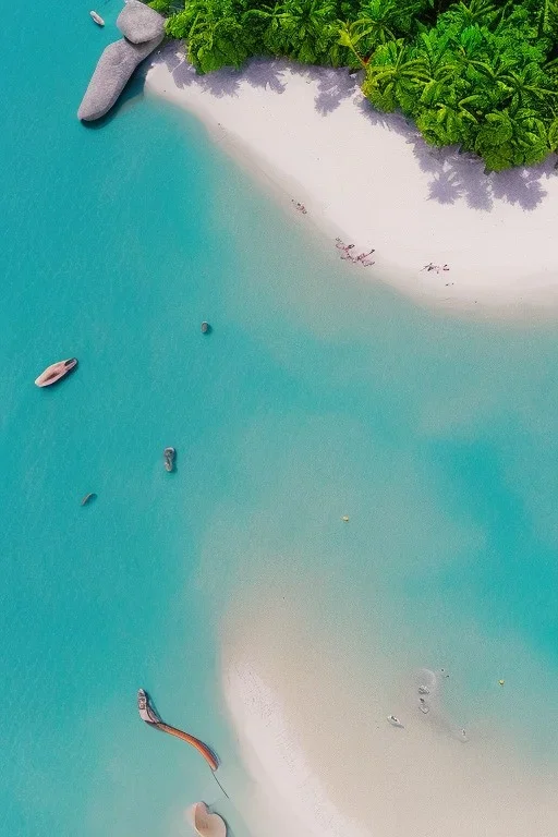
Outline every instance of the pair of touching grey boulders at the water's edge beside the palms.
<path id="1" fill-rule="evenodd" d="M 84 122 L 108 113 L 136 66 L 165 37 L 165 19 L 140 0 L 129 0 L 117 26 L 124 37 L 110 44 L 99 58 L 77 110 L 77 118 Z"/>

